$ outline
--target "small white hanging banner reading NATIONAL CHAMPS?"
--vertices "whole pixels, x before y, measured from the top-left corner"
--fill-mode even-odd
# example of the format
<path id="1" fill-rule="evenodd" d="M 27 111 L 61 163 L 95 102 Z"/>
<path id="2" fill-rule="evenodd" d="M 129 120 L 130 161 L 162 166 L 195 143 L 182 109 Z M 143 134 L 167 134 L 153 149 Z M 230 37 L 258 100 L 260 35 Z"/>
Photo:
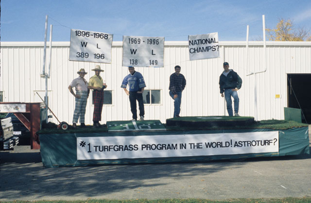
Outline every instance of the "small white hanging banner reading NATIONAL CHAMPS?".
<path id="1" fill-rule="evenodd" d="M 219 57 L 218 33 L 188 35 L 190 61 Z"/>

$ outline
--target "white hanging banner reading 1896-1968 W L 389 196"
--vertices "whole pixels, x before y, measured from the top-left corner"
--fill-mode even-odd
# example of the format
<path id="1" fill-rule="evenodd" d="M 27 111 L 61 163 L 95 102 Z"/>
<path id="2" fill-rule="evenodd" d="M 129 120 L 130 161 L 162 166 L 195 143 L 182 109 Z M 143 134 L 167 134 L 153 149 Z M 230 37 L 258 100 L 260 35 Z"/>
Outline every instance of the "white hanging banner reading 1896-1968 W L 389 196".
<path id="1" fill-rule="evenodd" d="M 111 63 L 113 34 L 71 29 L 70 61 Z"/>

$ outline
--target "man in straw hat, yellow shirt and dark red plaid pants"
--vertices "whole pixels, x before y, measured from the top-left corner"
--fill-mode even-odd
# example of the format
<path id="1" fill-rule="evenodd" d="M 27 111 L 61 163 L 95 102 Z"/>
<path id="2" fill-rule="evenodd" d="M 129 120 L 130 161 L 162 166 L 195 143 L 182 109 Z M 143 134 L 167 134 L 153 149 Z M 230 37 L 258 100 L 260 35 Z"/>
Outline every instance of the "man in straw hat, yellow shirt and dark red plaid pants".
<path id="1" fill-rule="evenodd" d="M 93 89 L 93 101 L 94 101 L 94 112 L 93 112 L 93 125 L 94 127 L 100 127 L 99 121 L 102 120 L 102 110 L 104 104 L 104 88 L 107 85 L 104 83 L 103 78 L 100 76 L 101 69 L 99 65 L 96 65 L 94 69 L 95 75 L 89 79 L 88 88 Z"/>

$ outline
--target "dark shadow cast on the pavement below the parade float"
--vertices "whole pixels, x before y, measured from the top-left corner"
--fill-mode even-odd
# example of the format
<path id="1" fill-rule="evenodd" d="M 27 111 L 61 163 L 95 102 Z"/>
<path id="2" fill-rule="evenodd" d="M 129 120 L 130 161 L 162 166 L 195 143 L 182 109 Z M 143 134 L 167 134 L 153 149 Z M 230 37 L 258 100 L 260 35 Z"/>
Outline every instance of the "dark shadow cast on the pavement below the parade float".
<path id="1" fill-rule="evenodd" d="M 0 199 L 96 197 L 138 187 L 166 186 L 189 177 L 239 169 L 250 162 L 310 159 L 310 154 L 200 163 L 110 165 L 46 169 L 39 152 L 1 152 Z"/>

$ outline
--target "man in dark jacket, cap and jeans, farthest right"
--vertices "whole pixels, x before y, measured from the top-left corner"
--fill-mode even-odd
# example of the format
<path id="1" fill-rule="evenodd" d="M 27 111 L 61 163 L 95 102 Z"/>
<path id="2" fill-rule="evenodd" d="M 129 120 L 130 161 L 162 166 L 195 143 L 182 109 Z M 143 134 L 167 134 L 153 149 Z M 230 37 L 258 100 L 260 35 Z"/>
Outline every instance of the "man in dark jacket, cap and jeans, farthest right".
<path id="1" fill-rule="evenodd" d="M 229 116 L 233 116 L 231 96 L 234 99 L 234 116 L 239 116 L 239 96 L 237 91 L 241 89 L 242 79 L 238 73 L 229 69 L 227 62 L 224 63 L 224 69 L 224 72 L 219 77 L 220 93 L 224 97 L 225 92 L 225 101 Z"/>

